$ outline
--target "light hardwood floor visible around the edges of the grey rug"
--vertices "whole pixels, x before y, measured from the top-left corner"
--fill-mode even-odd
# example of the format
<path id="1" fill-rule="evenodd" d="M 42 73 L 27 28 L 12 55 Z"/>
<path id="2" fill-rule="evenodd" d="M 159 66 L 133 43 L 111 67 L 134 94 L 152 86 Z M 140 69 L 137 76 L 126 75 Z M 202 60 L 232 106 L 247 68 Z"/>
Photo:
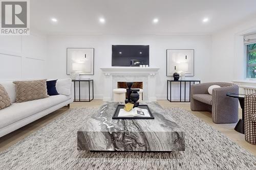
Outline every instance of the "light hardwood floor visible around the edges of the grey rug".
<path id="1" fill-rule="evenodd" d="M 234 142 L 241 145 L 241 147 L 245 148 L 250 153 L 254 154 L 256 156 L 256 144 L 250 144 L 244 140 L 244 134 L 238 133 L 233 130 L 234 126 L 236 124 L 215 124 L 211 120 L 211 114 L 209 112 L 203 112 L 203 111 L 191 111 L 190 110 L 190 103 L 170 103 L 167 100 L 158 100 L 158 103 L 164 107 L 179 107 L 183 108 L 185 110 L 188 110 L 190 113 L 194 114 L 195 116 L 202 119 L 205 123 L 210 125 L 211 127 L 214 127 L 221 133 L 225 134 L 228 138 L 233 140 Z M 102 100 L 93 100 L 91 102 L 73 102 L 70 104 L 70 109 L 75 107 L 99 107 L 103 104 Z M 69 109 L 67 108 L 61 108 L 59 110 L 54 111 L 53 113 L 46 115 L 45 117 L 42 117 L 35 122 L 22 127 L 12 133 L 9 133 L 3 137 L 0 138 L 0 151 L 6 150 L 11 145 L 15 144 L 16 142 L 22 140 L 26 136 L 30 135 L 31 133 L 39 130 L 41 127 L 44 127 L 45 125 L 49 124 L 53 119 L 61 116 Z M 240 110 L 240 117 L 242 117 L 242 111 Z"/>

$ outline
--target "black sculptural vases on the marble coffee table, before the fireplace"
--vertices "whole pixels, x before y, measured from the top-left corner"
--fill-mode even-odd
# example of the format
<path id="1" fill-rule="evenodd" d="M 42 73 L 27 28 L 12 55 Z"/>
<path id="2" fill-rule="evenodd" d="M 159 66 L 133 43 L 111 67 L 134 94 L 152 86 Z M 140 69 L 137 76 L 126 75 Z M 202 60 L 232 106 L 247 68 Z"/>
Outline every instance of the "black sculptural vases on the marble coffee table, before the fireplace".
<path id="1" fill-rule="evenodd" d="M 138 91 L 140 91 L 137 88 L 131 88 L 133 86 L 133 82 L 126 82 L 126 93 L 127 93 L 127 99 L 125 100 L 125 103 L 132 103 L 134 104 L 134 107 L 139 106 L 139 102 L 137 102 L 140 99 L 140 94 Z"/>

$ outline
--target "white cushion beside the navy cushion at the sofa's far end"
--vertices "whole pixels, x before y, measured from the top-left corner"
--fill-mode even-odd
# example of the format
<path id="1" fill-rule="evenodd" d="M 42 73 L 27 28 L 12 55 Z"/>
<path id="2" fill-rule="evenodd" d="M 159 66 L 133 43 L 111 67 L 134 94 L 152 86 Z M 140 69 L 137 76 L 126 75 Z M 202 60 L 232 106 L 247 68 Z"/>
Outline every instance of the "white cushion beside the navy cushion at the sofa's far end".
<path id="1" fill-rule="evenodd" d="M 71 79 L 60 79 L 56 82 L 56 89 L 59 94 L 70 95 L 71 94 Z"/>

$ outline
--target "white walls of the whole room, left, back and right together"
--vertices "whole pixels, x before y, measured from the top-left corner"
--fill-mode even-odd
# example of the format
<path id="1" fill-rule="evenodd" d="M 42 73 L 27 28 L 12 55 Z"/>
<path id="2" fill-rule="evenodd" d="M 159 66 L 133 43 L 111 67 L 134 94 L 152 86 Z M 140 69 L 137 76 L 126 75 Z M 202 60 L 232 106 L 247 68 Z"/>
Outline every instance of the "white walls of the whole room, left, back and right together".
<path id="1" fill-rule="evenodd" d="M 156 94 L 166 98 L 166 49 L 194 48 L 195 77 L 202 82 L 245 79 L 243 34 L 256 31 L 256 17 L 220 30 L 212 36 L 92 35 L 92 36 L 0 36 L 0 80 L 60 79 L 66 75 L 67 47 L 95 48 L 95 98 L 102 98 L 100 67 L 111 66 L 112 44 L 149 44 L 150 65 L 159 67 Z M 173 98 L 179 99 L 176 85 Z M 187 90 L 188 92 L 188 90 Z M 84 91 L 86 93 L 86 91 Z"/>

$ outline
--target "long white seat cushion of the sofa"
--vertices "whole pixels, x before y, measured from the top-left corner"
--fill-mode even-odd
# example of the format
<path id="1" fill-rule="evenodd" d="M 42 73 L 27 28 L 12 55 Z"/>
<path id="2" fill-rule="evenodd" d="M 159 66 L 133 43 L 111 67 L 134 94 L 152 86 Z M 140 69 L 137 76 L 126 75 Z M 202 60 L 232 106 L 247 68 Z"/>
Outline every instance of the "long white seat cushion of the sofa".
<path id="1" fill-rule="evenodd" d="M 52 95 L 49 98 L 39 99 L 23 103 L 14 103 L 10 107 L 0 110 L 0 128 L 17 122 L 18 120 L 29 117 L 40 111 L 71 99 L 66 95 Z"/>

